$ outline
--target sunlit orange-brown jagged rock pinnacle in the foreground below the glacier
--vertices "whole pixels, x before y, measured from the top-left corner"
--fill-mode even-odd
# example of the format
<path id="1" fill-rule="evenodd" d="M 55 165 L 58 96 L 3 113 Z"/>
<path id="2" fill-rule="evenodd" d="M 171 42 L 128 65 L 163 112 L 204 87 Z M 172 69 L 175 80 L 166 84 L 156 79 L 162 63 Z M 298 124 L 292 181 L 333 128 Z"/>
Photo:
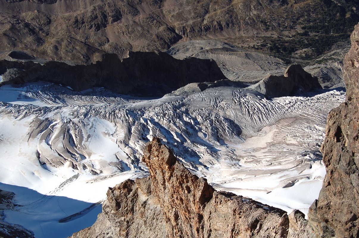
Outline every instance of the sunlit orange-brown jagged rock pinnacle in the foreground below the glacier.
<path id="1" fill-rule="evenodd" d="M 183 167 L 159 139 L 148 143 L 143 161 L 150 177 L 109 188 L 96 223 L 73 238 L 288 236 L 285 211 L 215 191 L 206 179 Z"/>

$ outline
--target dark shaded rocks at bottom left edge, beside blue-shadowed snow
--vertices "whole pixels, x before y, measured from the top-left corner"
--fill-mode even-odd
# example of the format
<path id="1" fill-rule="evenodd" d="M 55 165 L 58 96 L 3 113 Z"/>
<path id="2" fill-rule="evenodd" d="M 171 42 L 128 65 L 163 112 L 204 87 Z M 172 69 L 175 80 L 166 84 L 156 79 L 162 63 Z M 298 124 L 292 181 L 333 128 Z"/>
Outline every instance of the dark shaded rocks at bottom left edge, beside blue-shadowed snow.
<path id="1" fill-rule="evenodd" d="M 0 190 L 0 238 L 34 238 L 34 234 L 20 225 L 9 224 L 4 221 L 4 210 L 14 209 L 15 193 Z"/>

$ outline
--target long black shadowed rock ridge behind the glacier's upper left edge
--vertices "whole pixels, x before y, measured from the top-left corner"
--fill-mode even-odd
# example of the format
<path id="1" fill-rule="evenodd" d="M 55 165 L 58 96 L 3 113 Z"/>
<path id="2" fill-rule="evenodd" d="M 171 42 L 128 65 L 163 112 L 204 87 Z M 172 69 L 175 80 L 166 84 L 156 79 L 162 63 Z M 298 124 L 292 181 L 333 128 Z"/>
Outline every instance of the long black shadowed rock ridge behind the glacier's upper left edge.
<path id="1" fill-rule="evenodd" d="M 69 86 L 74 90 L 104 87 L 121 94 L 162 96 L 189 83 L 225 79 L 213 60 L 174 59 L 163 52 L 129 52 L 122 61 L 107 54 L 90 65 L 68 65 L 48 61 L 44 65 L 31 61 L 0 61 L 3 84 L 21 84 L 44 80 Z"/>

